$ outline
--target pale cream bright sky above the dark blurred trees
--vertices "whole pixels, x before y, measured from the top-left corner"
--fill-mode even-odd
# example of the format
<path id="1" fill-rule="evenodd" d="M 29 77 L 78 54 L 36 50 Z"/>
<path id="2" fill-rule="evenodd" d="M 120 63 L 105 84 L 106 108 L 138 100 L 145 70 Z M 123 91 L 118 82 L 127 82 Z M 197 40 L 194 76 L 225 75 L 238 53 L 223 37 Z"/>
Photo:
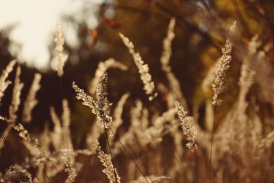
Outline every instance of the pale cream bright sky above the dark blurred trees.
<path id="1" fill-rule="evenodd" d="M 18 23 L 10 39 L 22 45 L 18 60 L 29 66 L 46 69 L 49 63 L 47 47 L 53 42 L 55 27 L 60 16 L 72 14 L 75 19 L 85 21 L 91 27 L 97 25 L 93 14 L 83 11 L 91 3 L 102 0 L 0 0 L 0 29 Z M 85 14 L 85 16 L 84 16 Z M 88 17 L 88 18 L 87 18 Z M 66 42 L 77 45 L 76 32 L 62 24 Z M 0 42 L 1 46 L 1 42 Z M 14 47 L 10 47 L 14 53 Z"/>

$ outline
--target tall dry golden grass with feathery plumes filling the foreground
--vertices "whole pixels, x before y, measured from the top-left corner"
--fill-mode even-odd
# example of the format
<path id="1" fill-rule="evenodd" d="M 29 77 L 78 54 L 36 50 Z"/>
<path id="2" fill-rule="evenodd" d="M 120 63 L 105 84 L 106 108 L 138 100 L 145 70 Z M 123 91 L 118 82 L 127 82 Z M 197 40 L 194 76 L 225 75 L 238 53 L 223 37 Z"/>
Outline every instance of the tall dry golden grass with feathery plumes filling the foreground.
<path id="1" fill-rule="evenodd" d="M 237 79 L 238 97 L 221 118 L 217 106 L 221 97 L 229 92 L 229 88 L 225 90 L 225 81 L 236 49 L 232 34 L 235 27 L 232 26 L 230 33 L 227 31 L 229 38 L 220 52 L 221 58 L 202 82 L 201 88 L 205 93 L 209 90 L 208 85 L 212 84 L 212 101 L 205 101 L 205 117 L 197 119 L 187 115 L 192 112 L 169 65 L 174 28 L 175 19 L 171 19 L 159 59 L 167 84 L 153 82 L 149 65 L 134 51 L 133 43 L 119 34 L 133 56 L 140 74 L 136 77 L 140 77 L 150 104 L 153 105 L 151 100 L 164 95 L 165 112 L 155 110 L 156 107 L 151 110 L 139 99 L 132 101 L 130 93 L 121 96 L 117 103 L 109 101 L 108 77 L 112 75 L 107 74 L 108 69 L 128 69 L 113 58 L 100 62 L 95 77 L 90 81 L 90 93 L 73 82 L 75 97 L 89 108 L 88 115 L 96 118 L 82 149 L 73 145 L 71 115 L 74 111 L 63 95 L 60 96 L 61 115 L 54 106 L 50 107 L 52 128 L 46 123 L 44 132 L 36 136 L 26 130 L 24 123 L 32 123 L 32 110 L 38 103 L 36 93 L 42 87 L 42 77 L 40 74 L 34 76 L 21 119 L 18 109 L 21 107 L 23 83 L 20 66 L 17 66 L 9 116 L 0 116 L 0 150 L 10 166 L 0 174 L 0 182 L 274 182 L 271 161 L 274 131 L 263 129 L 258 103 L 256 99 L 248 99 L 256 74 L 260 74 L 255 72 L 256 62 L 266 58 L 264 52 L 258 50 L 262 42 L 254 36 L 246 45 L 247 56 L 242 61 Z M 62 78 L 67 56 L 60 25 L 55 42 L 56 70 L 58 77 Z M 0 77 L 0 101 L 12 83 L 8 78 L 15 64 L 16 61 L 10 62 Z M 225 102 L 223 99 L 224 106 Z M 202 129 L 198 121 L 211 121 L 212 129 Z M 22 139 L 21 148 L 27 151 L 27 157 L 21 162 L 10 158 L 18 153 L 8 145 L 9 138 L 18 140 L 14 132 Z"/>

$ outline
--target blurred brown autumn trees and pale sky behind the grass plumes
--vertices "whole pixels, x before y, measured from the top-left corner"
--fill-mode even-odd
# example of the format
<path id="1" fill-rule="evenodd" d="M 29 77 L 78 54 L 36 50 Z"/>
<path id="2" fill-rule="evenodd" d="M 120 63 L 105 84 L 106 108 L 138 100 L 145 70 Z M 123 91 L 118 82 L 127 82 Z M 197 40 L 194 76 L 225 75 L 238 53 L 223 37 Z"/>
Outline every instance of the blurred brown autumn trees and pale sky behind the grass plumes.
<path id="1" fill-rule="evenodd" d="M 34 108 L 32 123 L 27 124 L 26 128 L 33 134 L 39 134 L 46 121 L 52 127 L 49 106 L 54 106 L 59 114 L 62 107 L 54 59 L 54 32 L 60 23 L 65 38 L 64 49 L 69 56 L 62 78 L 63 95 L 69 99 L 73 111 L 73 145 L 75 149 L 83 148 L 86 133 L 95 117 L 75 99 L 72 82 L 88 90 L 99 62 L 115 58 L 129 69 L 108 71 L 110 102 L 116 103 L 121 95 L 130 92 L 127 105 L 142 99 L 149 110 L 166 111 L 162 105 L 166 103 L 164 92 L 159 93 L 152 102 L 147 99 L 138 70 L 119 32 L 134 42 L 136 51 L 149 64 L 153 81 L 158 86 L 167 82 L 161 71 L 160 56 L 169 21 L 175 17 L 171 69 L 179 80 L 189 114 L 199 114 L 199 125 L 203 130 L 208 130 L 203 115 L 205 101 L 212 98 L 212 91 L 205 93 L 202 90 L 203 79 L 221 56 L 227 30 L 237 21 L 235 51 L 227 76 L 228 89 L 223 96 L 226 105 L 220 107 L 217 122 L 236 100 L 240 65 L 245 57 L 242 49 L 247 48 L 251 38 L 258 34 L 262 42 L 258 49 L 264 51 L 268 59 L 257 67 L 261 74 L 256 76 L 249 100 L 255 100 L 260 105 L 264 130 L 271 131 L 274 129 L 271 122 L 274 111 L 273 10 L 272 0 L 0 1 L 0 69 L 2 71 L 14 58 L 22 66 L 21 80 L 25 83 L 22 100 L 27 95 L 34 73 L 42 73 L 39 103 Z M 10 78 L 13 80 L 14 73 Z M 1 115 L 8 116 L 11 95 L 12 87 L 9 87 L 1 101 Z M 6 167 L 0 168 L 3 170 Z"/>

